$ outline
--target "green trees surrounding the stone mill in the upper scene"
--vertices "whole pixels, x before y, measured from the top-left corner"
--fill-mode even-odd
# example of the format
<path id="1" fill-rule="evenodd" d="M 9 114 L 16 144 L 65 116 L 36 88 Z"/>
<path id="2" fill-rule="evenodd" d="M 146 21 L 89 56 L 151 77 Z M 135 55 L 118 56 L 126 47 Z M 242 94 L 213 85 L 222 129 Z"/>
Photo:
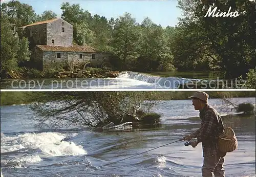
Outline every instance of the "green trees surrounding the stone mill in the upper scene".
<path id="1" fill-rule="evenodd" d="M 234 18 L 204 17 L 213 2 L 222 11 L 231 7 L 246 13 Z M 254 4 L 248 0 L 179 0 L 178 5 L 183 17 L 176 27 L 166 28 L 148 17 L 139 24 L 130 13 L 108 20 L 98 14 L 92 16 L 79 4 L 62 3 L 60 9 L 61 17 L 73 25 L 73 44 L 111 52 L 110 63 L 115 70 L 221 70 L 225 78 L 247 77 L 248 87 L 255 88 L 255 77 L 250 70 L 255 67 Z M 54 17 L 53 11 L 38 15 L 31 6 L 19 1 L 1 5 L 1 22 L 16 27 Z M 4 66 L 1 73 L 15 70 L 17 65 L 23 67 L 30 55 L 27 39 L 20 37 L 17 40 L 10 29 L 1 23 L 1 42 L 4 45 L 1 46 L 1 64 Z"/>

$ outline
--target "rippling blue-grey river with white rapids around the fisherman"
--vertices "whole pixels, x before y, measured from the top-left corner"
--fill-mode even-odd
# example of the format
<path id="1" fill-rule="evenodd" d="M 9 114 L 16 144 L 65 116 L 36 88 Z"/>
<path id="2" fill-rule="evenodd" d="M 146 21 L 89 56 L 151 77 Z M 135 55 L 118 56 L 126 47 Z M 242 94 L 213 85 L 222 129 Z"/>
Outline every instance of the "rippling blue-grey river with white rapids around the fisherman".
<path id="1" fill-rule="evenodd" d="M 236 103 L 255 98 L 234 98 Z M 226 176 L 255 176 L 255 117 L 231 116 L 220 99 L 209 104 L 223 115 L 237 136 L 239 148 L 225 157 Z M 227 108 L 227 107 L 225 107 Z M 28 105 L 1 106 L 1 168 L 4 176 L 200 176 L 202 147 L 174 142 L 200 125 L 190 100 L 160 101 L 154 107 L 161 126 L 119 132 L 87 128 L 38 129 Z M 224 111 L 225 110 L 225 111 Z M 195 118 L 197 117 L 197 118 Z M 61 141 L 63 138 L 65 141 Z M 138 156 L 137 153 L 148 151 Z M 105 166 L 103 166 L 105 165 Z M 99 168 L 102 166 L 101 168 Z"/>

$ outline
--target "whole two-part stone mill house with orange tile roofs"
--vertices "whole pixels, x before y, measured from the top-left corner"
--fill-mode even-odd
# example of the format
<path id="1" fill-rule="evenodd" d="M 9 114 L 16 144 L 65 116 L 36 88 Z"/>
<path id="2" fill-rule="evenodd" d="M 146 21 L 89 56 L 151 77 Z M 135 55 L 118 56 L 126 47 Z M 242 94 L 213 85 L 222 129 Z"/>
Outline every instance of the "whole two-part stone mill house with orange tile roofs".
<path id="1" fill-rule="evenodd" d="M 38 70 L 108 65 L 109 53 L 99 52 L 90 46 L 72 45 L 73 26 L 61 18 L 39 21 L 19 30 L 30 42 L 31 61 Z"/>

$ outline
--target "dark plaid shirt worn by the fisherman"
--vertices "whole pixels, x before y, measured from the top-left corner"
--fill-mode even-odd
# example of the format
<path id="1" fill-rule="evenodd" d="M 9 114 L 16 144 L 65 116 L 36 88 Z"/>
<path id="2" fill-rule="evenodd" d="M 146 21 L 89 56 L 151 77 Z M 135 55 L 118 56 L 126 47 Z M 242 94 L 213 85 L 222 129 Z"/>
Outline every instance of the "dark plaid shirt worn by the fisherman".
<path id="1" fill-rule="evenodd" d="M 193 135 L 198 142 L 202 142 L 203 157 L 214 156 L 220 154 L 218 152 L 218 137 L 224 130 L 223 122 L 217 110 L 210 105 L 200 110 L 201 127 L 196 130 Z M 225 156 L 225 154 L 220 154 Z"/>

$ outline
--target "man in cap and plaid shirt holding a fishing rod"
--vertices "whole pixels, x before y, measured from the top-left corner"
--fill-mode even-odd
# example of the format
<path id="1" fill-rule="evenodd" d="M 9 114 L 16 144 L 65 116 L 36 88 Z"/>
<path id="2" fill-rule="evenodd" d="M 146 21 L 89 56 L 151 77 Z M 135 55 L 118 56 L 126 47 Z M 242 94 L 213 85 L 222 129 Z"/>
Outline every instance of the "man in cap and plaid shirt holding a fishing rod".
<path id="1" fill-rule="evenodd" d="M 217 110 L 208 104 L 209 95 L 205 92 L 196 92 L 189 97 L 192 100 L 195 110 L 199 110 L 201 127 L 191 135 L 183 137 L 183 140 L 190 141 L 196 138 L 197 141 L 191 141 L 192 147 L 196 147 L 202 142 L 203 148 L 203 166 L 202 176 L 225 176 L 223 168 L 224 157 L 226 153 L 218 150 L 218 137 L 224 130 L 223 122 Z"/>

